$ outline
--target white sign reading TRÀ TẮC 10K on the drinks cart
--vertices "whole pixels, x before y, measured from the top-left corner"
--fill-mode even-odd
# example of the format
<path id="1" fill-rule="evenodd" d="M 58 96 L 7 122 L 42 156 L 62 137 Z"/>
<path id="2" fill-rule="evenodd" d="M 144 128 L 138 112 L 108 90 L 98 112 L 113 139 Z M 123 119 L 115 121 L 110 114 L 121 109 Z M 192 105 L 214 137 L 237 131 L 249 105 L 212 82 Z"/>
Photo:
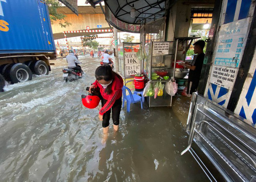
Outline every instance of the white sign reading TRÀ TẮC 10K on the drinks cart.
<path id="1" fill-rule="evenodd" d="M 140 60 L 135 52 L 125 52 L 125 76 L 140 73 Z"/>

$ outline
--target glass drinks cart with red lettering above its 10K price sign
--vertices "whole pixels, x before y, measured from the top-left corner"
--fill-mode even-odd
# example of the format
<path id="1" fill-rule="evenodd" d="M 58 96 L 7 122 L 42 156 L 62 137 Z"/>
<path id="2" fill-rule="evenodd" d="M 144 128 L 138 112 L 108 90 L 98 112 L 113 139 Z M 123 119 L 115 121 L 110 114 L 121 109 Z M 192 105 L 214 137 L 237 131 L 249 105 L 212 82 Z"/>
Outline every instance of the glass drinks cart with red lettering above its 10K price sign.
<path id="1" fill-rule="evenodd" d="M 124 83 L 131 90 L 134 90 L 133 77 L 141 73 L 141 61 L 137 57 L 140 43 L 123 42 L 118 45 L 119 75 L 123 78 Z"/>

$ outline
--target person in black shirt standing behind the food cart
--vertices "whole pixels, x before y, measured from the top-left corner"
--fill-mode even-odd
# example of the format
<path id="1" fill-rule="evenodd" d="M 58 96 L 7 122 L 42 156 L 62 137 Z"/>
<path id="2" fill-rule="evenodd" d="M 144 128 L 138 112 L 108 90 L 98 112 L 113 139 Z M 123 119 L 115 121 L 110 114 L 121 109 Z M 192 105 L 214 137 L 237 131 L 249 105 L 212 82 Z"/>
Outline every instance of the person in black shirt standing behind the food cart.
<path id="1" fill-rule="evenodd" d="M 204 63 L 204 46 L 203 40 L 196 41 L 194 44 L 194 56 L 192 63 L 183 63 L 182 65 L 189 68 L 189 80 L 187 87 L 187 94 L 192 94 L 197 90 L 199 85 L 200 75 L 202 71 L 202 65 Z"/>

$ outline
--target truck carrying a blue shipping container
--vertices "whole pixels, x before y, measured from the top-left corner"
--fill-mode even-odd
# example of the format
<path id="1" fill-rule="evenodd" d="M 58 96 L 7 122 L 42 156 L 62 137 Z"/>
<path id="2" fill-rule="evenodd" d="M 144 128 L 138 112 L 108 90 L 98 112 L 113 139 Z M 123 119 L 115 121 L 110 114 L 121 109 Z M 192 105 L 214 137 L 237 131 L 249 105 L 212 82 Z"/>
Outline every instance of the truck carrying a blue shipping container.
<path id="1" fill-rule="evenodd" d="M 0 82 L 47 75 L 56 58 L 47 4 L 41 0 L 0 0 Z M 2 90 L 0 83 L 0 90 Z"/>

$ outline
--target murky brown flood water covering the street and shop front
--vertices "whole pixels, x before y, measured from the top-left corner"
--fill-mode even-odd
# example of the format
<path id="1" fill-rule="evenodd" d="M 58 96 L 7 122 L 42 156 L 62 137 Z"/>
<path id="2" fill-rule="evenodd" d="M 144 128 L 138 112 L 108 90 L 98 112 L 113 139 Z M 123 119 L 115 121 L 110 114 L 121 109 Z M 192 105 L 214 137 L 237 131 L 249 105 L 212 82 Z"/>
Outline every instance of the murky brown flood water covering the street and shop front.
<path id="1" fill-rule="evenodd" d="M 208 181 L 194 158 L 180 153 L 187 133 L 170 107 L 121 111 L 119 132 L 102 144 L 99 108 L 85 109 L 81 94 L 94 82 L 99 58 L 80 56 L 85 72 L 65 83 L 65 60 L 47 76 L 0 93 L 0 177 L 9 181 Z"/>

